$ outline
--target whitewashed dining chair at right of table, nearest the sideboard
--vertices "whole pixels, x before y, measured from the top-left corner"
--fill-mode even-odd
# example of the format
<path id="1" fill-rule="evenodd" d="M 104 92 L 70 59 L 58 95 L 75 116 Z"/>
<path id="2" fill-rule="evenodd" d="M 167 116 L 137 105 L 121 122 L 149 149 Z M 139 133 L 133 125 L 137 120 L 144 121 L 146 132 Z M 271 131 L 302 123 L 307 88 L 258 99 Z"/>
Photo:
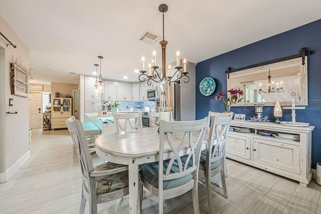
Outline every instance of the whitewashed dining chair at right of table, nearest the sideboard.
<path id="1" fill-rule="evenodd" d="M 224 115 L 225 116 L 225 115 Z M 220 174 L 223 194 L 227 197 L 225 183 L 225 153 L 226 141 L 232 116 L 213 116 L 209 132 L 207 149 L 201 152 L 199 176 L 205 177 L 207 199 L 210 213 L 214 213 L 212 202 L 211 177 Z M 220 129 L 219 129 L 220 127 Z"/>

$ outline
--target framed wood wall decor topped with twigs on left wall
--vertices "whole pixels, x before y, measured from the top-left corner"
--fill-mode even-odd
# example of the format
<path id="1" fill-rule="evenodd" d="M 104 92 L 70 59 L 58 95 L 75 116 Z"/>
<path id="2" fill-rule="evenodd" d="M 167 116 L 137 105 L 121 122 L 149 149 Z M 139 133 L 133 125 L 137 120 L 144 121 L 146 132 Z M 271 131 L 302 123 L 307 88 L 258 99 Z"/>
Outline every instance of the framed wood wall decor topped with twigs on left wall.
<path id="1" fill-rule="evenodd" d="M 11 94 L 29 97 L 29 77 L 18 65 L 11 63 Z"/>

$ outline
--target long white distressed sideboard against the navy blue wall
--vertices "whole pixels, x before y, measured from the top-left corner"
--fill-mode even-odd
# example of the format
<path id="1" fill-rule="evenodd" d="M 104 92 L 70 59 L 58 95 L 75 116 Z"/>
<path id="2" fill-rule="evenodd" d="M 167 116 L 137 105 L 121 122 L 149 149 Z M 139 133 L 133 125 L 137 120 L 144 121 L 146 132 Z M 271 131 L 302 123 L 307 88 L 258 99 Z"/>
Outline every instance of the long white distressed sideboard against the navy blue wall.
<path id="1" fill-rule="evenodd" d="M 296 127 L 275 123 L 255 123 L 232 120 L 231 127 L 251 128 L 251 133 L 230 131 L 226 157 L 293 179 L 306 186 L 311 178 L 311 132 L 314 126 Z M 261 136 L 268 130 L 299 134 L 299 141 Z"/>

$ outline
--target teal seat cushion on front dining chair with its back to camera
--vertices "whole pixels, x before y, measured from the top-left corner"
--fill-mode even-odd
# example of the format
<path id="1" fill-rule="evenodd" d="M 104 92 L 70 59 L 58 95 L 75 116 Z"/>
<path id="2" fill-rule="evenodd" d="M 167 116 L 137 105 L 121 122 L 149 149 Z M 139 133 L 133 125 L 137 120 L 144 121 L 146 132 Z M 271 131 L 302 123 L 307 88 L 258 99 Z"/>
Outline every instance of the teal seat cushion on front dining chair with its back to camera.
<path id="1" fill-rule="evenodd" d="M 164 168 L 163 174 L 166 173 L 167 166 L 169 165 L 170 160 L 164 160 Z M 183 165 L 184 167 L 184 165 Z M 177 160 L 174 161 L 173 166 L 171 168 L 171 173 L 175 173 L 179 171 L 179 165 Z M 147 163 L 140 169 L 140 175 L 151 185 L 158 188 L 158 162 Z M 163 181 L 163 189 L 170 189 L 174 187 L 181 186 L 190 180 L 193 179 L 192 174 L 185 175 L 184 177 L 180 177 L 173 180 L 164 180 Z"/>

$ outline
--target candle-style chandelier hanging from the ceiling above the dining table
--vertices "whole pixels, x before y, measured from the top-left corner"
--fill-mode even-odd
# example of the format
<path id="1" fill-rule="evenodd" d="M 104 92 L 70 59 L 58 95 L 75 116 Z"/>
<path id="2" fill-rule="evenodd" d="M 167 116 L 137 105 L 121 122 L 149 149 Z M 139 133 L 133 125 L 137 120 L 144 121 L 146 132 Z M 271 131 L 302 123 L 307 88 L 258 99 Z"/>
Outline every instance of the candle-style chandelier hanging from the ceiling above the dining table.
<path id="1" fill-rule="evenodd" d="M 180 62 L 180 52 L 177 51 L 176 53 L 176 71 L 174 71 L 174 74 L 172 75 L 171 71 L 171 65 L 168 66 L 168 73 L 166 73 L 166 45 L 168 44 L 167 41 L 165 41 L 164 37 L 164 13 L 168 11 L 168 6 L 165 4 L 162 4 L 158 7 L 159 12 L 163 13 L 163 41 L 159 42 L 162 47 L 162 72 L 157 71 L 159 67 L 156 66 L 156 52 L 155 50 L 152 53 L 152 65 L 149 63 L 148 65 L 148 75 L 146 74 L 147 71 L 145 71 L 145 59 L 144 56 L 141 58 L 141 71 L 140 75 L 138 77 L 140 82 L 144 82 L 147 80 L 147 84 L 151 85 L 151 81 L 154 81 L 156 83 L 169 83 L 171 85 L 172 82 L 176 82 L 184 77 L 184 82 L 188 83 L 190 81 L 190 77 L 187 76 L 188 72 L 186 72 L 186 59 L 184 58 L 183 61 L 183 67 L 181 67 L 181 62 Z M 182 71 L 183 68 L 183 71 Z"/>

